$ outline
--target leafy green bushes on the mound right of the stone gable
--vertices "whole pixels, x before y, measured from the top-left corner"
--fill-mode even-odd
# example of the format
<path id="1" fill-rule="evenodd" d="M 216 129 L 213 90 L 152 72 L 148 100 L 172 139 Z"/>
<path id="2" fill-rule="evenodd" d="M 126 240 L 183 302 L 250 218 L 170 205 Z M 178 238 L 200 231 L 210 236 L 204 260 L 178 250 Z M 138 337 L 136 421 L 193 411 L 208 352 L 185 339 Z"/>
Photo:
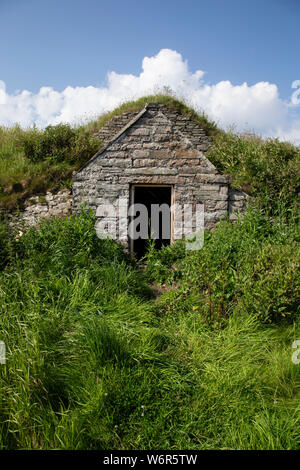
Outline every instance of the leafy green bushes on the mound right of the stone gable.
<path id="1" fill-rule="evenodd" d="M 300 148 L 278 139 L 263 140 L 232 132 L 219 134 L 208 153 L 232 184 L 274 212 L 278 203 L 292 205 L 300 190 Z"/>

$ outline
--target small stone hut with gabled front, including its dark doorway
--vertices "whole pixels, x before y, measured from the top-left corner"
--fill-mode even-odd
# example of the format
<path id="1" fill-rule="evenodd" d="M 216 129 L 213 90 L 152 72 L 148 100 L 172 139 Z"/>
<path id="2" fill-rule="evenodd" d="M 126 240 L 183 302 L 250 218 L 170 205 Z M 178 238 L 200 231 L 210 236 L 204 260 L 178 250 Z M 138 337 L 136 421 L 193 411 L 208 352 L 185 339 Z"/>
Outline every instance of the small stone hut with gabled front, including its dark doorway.
<path id="1" fill-rule="evenodd" d="M 141 248 L 128 230 L 132 204 L 201 204 L 206 229 L 227 213 L 233 219 L 245 209 L 247 195 L 232 189 L 228 176 L 218 173 L 206 157 L 210 138 L 205 131 L 166 105 L 149 103 L 141 112 L 119 115 L 98 136 L 101 149 L 73 176 L 72 210 L 92 208 L 102 230 L 112 236 L 114 232 L 128 249 Z M 169 224 L 163 244 L 180 238 L 172 215 Z M 194 232 L 193 217 L 188 225 Z"/>

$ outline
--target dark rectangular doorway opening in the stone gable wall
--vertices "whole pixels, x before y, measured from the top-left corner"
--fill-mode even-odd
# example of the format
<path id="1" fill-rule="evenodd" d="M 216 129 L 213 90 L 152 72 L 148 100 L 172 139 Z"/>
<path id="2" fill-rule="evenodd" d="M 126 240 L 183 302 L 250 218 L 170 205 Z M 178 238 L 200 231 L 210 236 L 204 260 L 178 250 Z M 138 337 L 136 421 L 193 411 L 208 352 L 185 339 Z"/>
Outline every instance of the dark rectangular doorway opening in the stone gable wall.
<path id="1" fill-rule="evenodd" d="M 132 187 L 132 203 L 135 205 L 135 216 L 131 217 L 131 223 L 136 220 L 136 234 L 131 238 L 131 250 L 136 254 L 137 258 L 141 258 L 147 248 L 148 239 L 155 240 L 155 248 L 160 249 L 164 245 L 171 243 L 171 186 L 133 186 Z M 137 205 L 142 206 L 137 206 Z M 142 212 L 146 214 L 142 218 Z M 144 222 L 144 227 L 138 223 Z M 147 227 L 145 227 L 145 224 Z M 137 237 L 137 232 L 140 236 Z"/>

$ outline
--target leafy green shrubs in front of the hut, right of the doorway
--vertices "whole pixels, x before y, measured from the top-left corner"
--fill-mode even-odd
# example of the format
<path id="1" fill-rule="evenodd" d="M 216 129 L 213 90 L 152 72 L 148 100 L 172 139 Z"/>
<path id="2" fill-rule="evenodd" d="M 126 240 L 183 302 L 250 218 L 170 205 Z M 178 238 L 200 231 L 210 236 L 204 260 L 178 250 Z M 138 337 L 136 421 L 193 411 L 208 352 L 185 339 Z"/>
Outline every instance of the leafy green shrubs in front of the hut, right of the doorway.
<path id="1" fill-rule="evenodd" d="M 254 314 L 277 322 L 298 313 L 299 249 L 296 219 L 285 211 L 270 219 L 250 208 L 235 224 L 224 221 L 205 234 L 199 251 L 187 252 L 173 272 L 157 253 L 150 274 L 168 282 L 180 279 L 176 291 L 162 296 L 161 313 L 197 311 L 204 320 L 221 321 L 233 313 Z M 160 259 L 161 256 L 161 259 Z"/>

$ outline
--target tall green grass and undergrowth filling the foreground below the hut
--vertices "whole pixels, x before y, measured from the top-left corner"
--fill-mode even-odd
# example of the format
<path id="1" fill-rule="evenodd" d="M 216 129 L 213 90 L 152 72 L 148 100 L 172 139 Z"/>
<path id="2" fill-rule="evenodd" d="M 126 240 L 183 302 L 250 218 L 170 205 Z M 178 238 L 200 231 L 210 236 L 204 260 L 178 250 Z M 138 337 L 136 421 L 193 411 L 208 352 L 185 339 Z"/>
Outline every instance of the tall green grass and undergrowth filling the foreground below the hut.
<path id="1" fill-rule="evenodd" d="M 264 263 L 299 267 L 297 233 L 295 219 L 270 222 L 253 209 L 208 235 L 202 254 L 180 243 L 150 250 L 141 271 L 97 238 L 89 213 L 19 238 L 2 224 L 1 448 L 299 448 L 297 283 L 284 292 L 285 317 L 272 299 L 272 312 L 260 315 L 240 289 L 266 243 L 293 250 Z M 209 304 L 203 289 L 214 281 Z M 154 282 L 165 287 L 156 299 Z M 256 300 L 269 291 L 258 282 Z"/>

